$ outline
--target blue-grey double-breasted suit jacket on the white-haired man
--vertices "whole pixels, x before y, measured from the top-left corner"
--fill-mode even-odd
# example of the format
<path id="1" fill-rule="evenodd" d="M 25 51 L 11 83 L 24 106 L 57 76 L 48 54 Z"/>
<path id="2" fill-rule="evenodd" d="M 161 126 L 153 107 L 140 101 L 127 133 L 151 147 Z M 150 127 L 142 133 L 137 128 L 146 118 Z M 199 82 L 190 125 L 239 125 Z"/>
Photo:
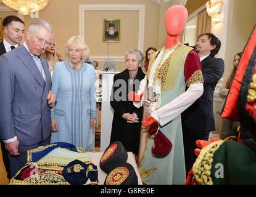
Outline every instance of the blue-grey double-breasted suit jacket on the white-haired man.
<path id="1" fill-rule="evenodd" d="M 0 136 L 17 136 L 20 145 L 32 145 L 51 135 L 47 94 L 51 88 L 48 64 L 40 57 L 46 81 L 33 57 L 20 46 L 0 57 Z"/>

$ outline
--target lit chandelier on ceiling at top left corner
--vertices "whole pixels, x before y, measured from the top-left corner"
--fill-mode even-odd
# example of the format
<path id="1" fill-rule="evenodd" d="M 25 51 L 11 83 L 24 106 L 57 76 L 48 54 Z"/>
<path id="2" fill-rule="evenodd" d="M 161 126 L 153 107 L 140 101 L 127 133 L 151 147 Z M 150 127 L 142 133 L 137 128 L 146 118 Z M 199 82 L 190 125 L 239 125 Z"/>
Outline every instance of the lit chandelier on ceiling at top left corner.
<path id="1" fill-rule="evenodd" d="M 50 0 L 2 0 L 6 6 L 18 10 L 20 14 L 28 15 L 30 12 L 36 12 L 49 4 Z"/>

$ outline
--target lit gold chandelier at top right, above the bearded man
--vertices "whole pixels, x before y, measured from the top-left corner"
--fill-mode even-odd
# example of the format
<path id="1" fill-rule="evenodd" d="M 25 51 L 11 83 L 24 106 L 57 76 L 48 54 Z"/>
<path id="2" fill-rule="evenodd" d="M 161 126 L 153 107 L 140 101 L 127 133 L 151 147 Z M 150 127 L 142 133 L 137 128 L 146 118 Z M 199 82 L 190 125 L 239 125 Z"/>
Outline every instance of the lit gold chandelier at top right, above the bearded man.
<path id="1" fill-rule="evenodd" d="M 208 15 L 212 18 L 212 24 L 220 23 L 223 19 L 223 7 L 225 0 L 210 0 L 206 3 Z"/>

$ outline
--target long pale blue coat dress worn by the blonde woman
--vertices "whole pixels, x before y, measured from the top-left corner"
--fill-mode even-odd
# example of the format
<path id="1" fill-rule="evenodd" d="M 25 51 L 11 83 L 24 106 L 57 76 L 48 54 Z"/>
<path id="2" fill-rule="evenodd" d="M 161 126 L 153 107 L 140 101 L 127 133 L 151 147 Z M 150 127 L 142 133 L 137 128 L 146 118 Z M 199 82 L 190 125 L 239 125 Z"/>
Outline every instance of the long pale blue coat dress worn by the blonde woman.
<path id="1" fill-rule="evenodd" d="M 79 71 L 70 62 L 58 62 L 52 76 L 52 92 L 57 100 L 51 109 L 58 132 L 52 132 L 51 143 L 68 142 L 86 151 L 93 151 L 94 129 L 91 118 L 97 118 L 94 88 L 94 67 L 83 63 Z"/>

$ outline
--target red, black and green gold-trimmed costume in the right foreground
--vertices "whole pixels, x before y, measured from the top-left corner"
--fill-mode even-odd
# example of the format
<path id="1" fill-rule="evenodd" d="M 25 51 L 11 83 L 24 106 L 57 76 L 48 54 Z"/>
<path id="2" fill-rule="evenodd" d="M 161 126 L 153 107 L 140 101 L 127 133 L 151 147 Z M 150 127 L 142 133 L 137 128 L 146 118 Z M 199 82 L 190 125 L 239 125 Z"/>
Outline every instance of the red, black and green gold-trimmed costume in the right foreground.
<path id="1" fill-rule="evenodd" d="M 198 184 L 256 184 L 255 66 L 256 26 L 244 48 L 223 113 L 241 122 L 238 143 L 222 140 L 200 151 L 192 167 Z"/>

